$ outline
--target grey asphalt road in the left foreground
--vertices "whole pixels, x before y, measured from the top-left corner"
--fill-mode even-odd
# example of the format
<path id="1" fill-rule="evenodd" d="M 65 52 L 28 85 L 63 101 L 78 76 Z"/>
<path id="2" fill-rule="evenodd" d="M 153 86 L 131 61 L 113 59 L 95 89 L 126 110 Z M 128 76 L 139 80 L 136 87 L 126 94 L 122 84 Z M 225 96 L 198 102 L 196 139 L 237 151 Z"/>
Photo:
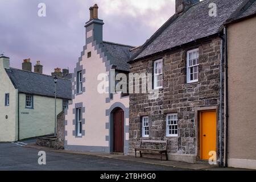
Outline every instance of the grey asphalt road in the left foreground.
<path id="1" fill-rule="evenodd" d="M 127 162 L 97 156 L 77 155 L 46 151 L 46 165 L 39 165 L 38 150 L 24 147 L 35 140 L 0 143 L 0 170 L 24 171 L 180 171 L 184 169 Z"/>

